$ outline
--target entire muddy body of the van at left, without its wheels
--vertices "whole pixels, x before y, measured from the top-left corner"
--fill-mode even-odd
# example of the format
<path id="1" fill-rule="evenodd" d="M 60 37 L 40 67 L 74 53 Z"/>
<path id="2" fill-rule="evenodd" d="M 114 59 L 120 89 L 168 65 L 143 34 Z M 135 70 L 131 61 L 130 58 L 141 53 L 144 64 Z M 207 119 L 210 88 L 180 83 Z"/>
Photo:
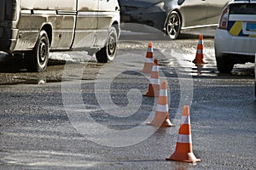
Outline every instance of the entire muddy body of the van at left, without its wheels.
<path id="1" fill-rule="evenodd" d="M 102 48 L 117 13 L 117 0 L 0 0 L 0 50 L 32 50 L 42 29 L 51 50 Z"/>

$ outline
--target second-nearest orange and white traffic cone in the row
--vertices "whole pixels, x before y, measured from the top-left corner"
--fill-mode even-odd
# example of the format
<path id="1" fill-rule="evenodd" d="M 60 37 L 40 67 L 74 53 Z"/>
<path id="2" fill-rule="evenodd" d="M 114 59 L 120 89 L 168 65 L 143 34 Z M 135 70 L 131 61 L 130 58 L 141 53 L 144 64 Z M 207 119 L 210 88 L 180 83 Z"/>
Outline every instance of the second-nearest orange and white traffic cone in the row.
<path id="1" fill-rule="evenodd" d="M 173 127 L 174 125 L 169 120 L 168 110 L 167 82 L 162 82 L 158 105 L 154 114 L 154 120 L 152 122 L 148 122 L 147 124 L 157 127 Z"/>

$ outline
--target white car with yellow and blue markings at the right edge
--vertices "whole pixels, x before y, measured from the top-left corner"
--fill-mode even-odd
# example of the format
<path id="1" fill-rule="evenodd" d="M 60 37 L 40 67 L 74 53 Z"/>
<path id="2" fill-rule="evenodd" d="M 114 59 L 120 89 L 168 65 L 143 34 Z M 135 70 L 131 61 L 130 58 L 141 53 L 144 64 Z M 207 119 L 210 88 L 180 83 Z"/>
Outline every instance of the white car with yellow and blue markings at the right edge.
<path id="1" fill-rule="evenodd" d="M 233 0 L 220 15 L 215 33 L 218 71 L 230 73 L 236 64 L 254 62 L 256 52 L 256 0 Z"/>

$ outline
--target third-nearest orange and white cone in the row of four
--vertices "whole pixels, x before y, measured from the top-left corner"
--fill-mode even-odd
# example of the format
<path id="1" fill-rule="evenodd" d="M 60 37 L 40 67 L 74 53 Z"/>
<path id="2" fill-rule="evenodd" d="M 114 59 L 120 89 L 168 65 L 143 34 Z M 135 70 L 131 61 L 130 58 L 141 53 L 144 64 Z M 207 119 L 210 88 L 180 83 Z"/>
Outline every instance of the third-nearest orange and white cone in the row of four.
<path id="1" fill-rule="evenodd" d="M 159 90 L 160 90 L 159 67 L 158 67 L 157 59 L 154 59 L 150 82 L 148 85 L 148 92 L 144 94 L 144 96 L 158 97 Z"/>

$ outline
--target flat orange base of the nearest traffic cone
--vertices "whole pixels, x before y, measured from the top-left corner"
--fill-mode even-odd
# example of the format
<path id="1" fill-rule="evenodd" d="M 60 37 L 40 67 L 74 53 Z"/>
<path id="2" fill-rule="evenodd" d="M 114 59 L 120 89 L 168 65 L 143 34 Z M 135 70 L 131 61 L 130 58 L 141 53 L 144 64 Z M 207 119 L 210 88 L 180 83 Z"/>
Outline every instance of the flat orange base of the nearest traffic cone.
<path id="1" fill-rule="evenodd" d="M 167 157 L 166 161 L 184 161 L 184 162 L 197 162 L 201 161 L 195 157 L 194 153 L 177 153 L 172 154 L 171 157 Z"/>

